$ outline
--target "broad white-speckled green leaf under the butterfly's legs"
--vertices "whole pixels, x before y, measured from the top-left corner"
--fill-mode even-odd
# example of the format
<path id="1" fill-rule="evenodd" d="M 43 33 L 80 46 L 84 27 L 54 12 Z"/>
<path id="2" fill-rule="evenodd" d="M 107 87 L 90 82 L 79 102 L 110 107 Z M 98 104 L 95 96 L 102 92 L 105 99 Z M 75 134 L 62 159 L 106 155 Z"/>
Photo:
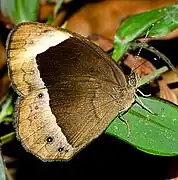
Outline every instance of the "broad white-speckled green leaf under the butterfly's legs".
<path id="1" fill-rule="evenodd" d="M 122 139 L 136 148 L 154 155 L 178 155 L 178 107 L 165 100 L 143 98 L 142 102 L 155 115 L 134 104 L 121 118 L 129 123 L 128 127 L 116 118 L 105 133 Z"/>

